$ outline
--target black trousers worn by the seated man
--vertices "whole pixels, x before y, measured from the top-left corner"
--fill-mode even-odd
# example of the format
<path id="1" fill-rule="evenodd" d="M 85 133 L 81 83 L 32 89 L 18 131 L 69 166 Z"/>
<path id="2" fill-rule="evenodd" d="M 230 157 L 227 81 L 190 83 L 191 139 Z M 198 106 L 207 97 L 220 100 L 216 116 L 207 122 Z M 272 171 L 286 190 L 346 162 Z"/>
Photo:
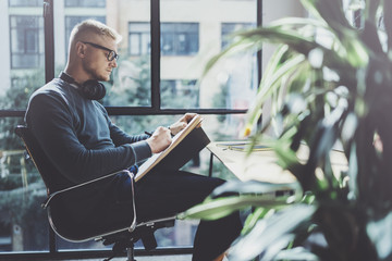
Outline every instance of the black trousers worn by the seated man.
<path id="1" fill-rule="evenodd" d="M 137 221 L 175 215 L 200 203 L 223 183 L 224 181 L 220 178 L 182 171 L 149 173 L 135 183 Z M 128 191 L 128 185 L 130 182 L 125 181 L 120 186 L 120 190 Z M 242 222 L 238 212 L 216 221 L 200 221 L 194 239 L 192 260 L 213 260 L 230 247 L 241 229 Z"/>

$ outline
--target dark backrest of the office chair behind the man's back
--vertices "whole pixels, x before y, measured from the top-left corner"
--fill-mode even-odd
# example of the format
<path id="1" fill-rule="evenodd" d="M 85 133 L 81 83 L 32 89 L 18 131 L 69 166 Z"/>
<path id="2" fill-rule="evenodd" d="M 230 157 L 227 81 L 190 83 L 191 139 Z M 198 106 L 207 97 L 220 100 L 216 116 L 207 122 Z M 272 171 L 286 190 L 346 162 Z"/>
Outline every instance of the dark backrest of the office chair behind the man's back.
<path id="1" fill-rule="evenodd" d="M 15 133 L 22 138 L 29 157 L 41 175 L 48 195 L 75 185 L 59 173 L 26 126 L 16 126 Z"/>

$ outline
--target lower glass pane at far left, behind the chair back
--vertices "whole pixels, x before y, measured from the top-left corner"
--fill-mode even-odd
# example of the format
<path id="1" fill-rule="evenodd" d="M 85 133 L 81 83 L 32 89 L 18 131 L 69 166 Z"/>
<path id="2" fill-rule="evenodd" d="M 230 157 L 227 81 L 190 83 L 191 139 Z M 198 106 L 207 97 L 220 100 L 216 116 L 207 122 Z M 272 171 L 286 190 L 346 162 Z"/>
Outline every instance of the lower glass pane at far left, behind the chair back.
<path id="1" fill-rule="evenodd" d="M 0 251 L 48 250 L 45 185 L 14 135 L 23 119 L 0 119 Z"/>

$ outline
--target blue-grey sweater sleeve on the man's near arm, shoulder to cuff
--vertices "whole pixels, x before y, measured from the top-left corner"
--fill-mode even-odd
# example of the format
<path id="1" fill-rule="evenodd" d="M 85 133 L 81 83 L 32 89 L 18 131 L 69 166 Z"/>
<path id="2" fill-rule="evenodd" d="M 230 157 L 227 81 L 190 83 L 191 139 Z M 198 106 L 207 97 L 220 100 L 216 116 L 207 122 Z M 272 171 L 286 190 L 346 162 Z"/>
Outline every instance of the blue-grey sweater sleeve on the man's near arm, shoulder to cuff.
<path id="1" fill-rule="evenodd" d="M 49 160 L 74 183 L 124 170 L 135 164 L 140 156 L 151 154 L 148 150 L 146 152 L 143 144 L 146 141 L 102 149 L 86 148 L 77 138 L 66 99 L 59 98 L 57 94 L 34 96 L 25 120 Z"/>

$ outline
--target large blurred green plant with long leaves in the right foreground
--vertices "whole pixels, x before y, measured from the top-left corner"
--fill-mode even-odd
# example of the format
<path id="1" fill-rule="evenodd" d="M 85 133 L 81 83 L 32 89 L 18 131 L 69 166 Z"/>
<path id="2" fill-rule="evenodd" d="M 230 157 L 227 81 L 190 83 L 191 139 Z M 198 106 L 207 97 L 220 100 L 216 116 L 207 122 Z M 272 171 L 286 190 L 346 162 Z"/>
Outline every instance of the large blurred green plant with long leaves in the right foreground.
<path id="1" fill-rule="evenodd" d="M 256 207 L 230 260 L 391 260 L 392 1 L 301 2 L 309 18 L 285 17 L 238 32 L 206 72 L 225 55 L 277 44 L 245 134 L 256 132 L 252 140 L 272 146 L 278 163 L 301 184 L 303 200 L 281 210 L 266 207 L 257 201 L 264 186 L 242 200 L 248 184 L 235 184 L 220 188 L 237 191 L 235 202 L 215 194 L 181 217 L 215 219 Z M 253 129 L 267 100 L 272 113 L 265 126 L 278 137 L 272 140 L 266 128 Z M 305 163 L 296 157 L 302 144 L 309 148 Z M 347 172 L 338 174 L 330 158 L 336 144 L 348 162 Z"/>

